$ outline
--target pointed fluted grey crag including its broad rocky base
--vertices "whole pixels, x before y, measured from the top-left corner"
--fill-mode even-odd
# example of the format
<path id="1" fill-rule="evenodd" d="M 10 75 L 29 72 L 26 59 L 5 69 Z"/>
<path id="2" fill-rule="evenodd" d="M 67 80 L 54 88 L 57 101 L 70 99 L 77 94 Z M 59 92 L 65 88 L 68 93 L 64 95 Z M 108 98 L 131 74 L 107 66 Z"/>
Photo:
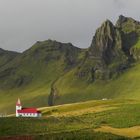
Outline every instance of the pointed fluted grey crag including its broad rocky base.
<path id="1" fill-rule="evenodd" d="M 111 21 L 105 21 L 93 37 L 79 75 L 88 81 L 110 79 L 128 67 L 128 56 L 123 50 L 121 31 Z"/>

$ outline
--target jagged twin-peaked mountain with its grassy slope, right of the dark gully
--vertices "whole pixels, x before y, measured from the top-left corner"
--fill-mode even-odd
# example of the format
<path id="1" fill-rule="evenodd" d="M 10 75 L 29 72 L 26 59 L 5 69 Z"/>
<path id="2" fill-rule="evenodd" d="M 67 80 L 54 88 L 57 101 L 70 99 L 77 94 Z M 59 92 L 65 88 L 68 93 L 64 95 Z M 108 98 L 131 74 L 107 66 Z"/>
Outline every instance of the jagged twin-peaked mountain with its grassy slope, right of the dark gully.
<path id="1" fill-rule="evenodd" d="M 137 25 L 135 30 L 134 25 L 129 26 L 130 34 L 126 27 L 129 22 Z M 127 17 L 120 16 L 116 27 L 108 20 L 104 22 L 93 37 L 83 63 L 56 82 L 59 99 L 54 102 L 139 98 L 140 64 L 132 52 L 139 46 L 134 41 L 138 32 L 139 22 Z M 78 77 L 74 76 L 77 71 Z"/>

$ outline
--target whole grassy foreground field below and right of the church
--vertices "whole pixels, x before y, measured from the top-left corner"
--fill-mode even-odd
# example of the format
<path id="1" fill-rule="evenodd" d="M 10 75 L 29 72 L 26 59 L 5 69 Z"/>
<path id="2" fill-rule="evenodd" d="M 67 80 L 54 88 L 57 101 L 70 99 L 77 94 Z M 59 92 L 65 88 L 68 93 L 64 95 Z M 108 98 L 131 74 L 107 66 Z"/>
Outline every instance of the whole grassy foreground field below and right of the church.
<path id="1" fill-rule="evenodd" d="M 42 118 L 1 118 L 0 138 L 122 140 L 140 137 L 139 100 L 97 100 L 40 110 Z"/>

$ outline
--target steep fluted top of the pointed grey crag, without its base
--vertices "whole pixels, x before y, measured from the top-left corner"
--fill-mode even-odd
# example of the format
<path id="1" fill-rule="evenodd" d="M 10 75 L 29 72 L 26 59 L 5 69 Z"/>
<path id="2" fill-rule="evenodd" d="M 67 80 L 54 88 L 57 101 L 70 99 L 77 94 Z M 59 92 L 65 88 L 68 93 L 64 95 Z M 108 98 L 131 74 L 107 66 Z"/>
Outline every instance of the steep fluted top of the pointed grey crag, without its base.
<path id="1" fill-rule="evenodd" d="M 98 57 L 105 61 L 106 64 L 109 64 L 120 55 L 118 51 L 121 51 L 121 47 L 122 42 L 119 30 L 111 21 L 106 20 L 97 29 L 89 50 L 90 55 Z"/>

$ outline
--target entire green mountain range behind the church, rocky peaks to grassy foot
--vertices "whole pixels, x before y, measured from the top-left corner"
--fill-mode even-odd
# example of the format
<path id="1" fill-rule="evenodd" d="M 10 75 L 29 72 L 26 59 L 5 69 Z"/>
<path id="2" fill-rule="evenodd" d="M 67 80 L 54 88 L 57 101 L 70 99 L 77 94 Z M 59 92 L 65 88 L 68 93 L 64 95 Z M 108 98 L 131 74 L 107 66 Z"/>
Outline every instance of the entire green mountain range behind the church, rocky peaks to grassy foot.
<path id="1" fill-rule="evenodd" d="M 106 20 L 87 49 L 53 40 L 23 53 L 0 50 L 0 110 L 102 98 L 139 98 L 140 23 Z M 2 52 L 2 54 L 1 54 Z M 131 81 L 131 86 L 130 86 Z"/>

